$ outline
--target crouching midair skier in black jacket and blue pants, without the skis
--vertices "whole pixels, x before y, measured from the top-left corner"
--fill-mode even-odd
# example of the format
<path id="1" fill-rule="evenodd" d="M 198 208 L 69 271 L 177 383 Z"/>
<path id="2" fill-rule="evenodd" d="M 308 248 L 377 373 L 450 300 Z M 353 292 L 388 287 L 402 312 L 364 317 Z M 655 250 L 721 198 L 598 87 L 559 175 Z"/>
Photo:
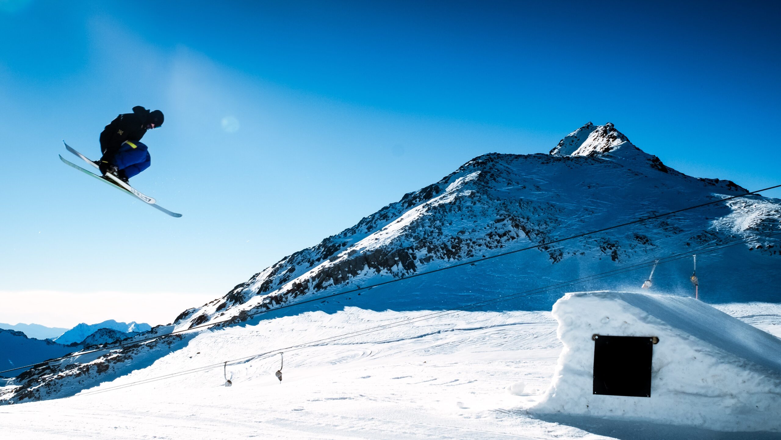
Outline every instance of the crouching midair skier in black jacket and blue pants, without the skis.
<path id="1" fill-rule="evenodd" d="M 124 113 L 117 116 L 100 133 L 100 149 L 102 158 L 96 163 L 103 173 L 103 178 L 108 173 L 127 183 L 130 177 L 148 169 L 151 157 L 147 146 L 138 142 L 147 130 L 162 126 L 162 112 L 155 110 L 150 112 L 146 108 L 137 105 L 132 113 Z"/>

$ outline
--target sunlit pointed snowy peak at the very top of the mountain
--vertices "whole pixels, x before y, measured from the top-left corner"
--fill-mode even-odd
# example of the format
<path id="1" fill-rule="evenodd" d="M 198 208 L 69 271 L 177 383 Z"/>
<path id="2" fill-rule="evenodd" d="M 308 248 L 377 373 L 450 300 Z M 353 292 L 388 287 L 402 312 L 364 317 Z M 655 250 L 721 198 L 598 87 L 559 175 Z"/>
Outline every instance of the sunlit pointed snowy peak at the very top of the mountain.
<path id="1" fill-rule="evenodd" d="M 551 154 L 562 156 L 597 156 L 617 150 L 640 151 L 629 138 L 619 130 L 615 130 L 612 122 L 604 126 L 595 126 L 592 122 L 569 133 L 558 145 L 551 150 Z"/>

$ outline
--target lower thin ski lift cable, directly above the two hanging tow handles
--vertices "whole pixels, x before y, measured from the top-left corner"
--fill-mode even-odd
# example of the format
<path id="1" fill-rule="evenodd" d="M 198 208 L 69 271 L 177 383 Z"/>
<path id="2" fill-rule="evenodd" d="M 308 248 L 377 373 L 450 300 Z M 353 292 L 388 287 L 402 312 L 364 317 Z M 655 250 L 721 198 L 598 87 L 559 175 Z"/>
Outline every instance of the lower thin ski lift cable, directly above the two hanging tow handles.
<path id="1" fill-rule="evenodd" d="M 743 244 L 743 243 L 748 243 L 747 240 L 752 240 L 752 239 L 756 239 L 756 238 L 769 238 L 771 236 L 781 236 L 781 232 L 767 235 L 768 233 L 769 232 L 762 232 L 761 234 L 758 234 L 756 236 L 744 237 L 743 239 L 740 239 L 740 240 L 732 240 L 730 242 L 722 243 L 722 245 L 726 244 L 726 246 L 718 246 L 718 247 L 716 247 L 715 245 L 710 245 L 708 247 L 711 247 L 712 249 L 708 250 L 707 249 L 708 247 L 704 247 L 704 248 L 701 248 L 700 250 L 697 250 L 697 251 L 700 254 L 710 253 L 710 252 L 715 252 L 717 250 L 726 249 L 727 247 L 733 247 L 733 246 L 737 246 L 737 245 L 740 245 L 740 244 Z M 739 242 L 739 243 L 734 243 L 734 242 Z M 679 260 L 681 260 L 683 258 L 687 258 L 689 256 L 690 256 L 690 252 L 686 252 L 686 253 L 683 253 L 683 254 L 676 254 L 676 255 L 669 256 L 669 257 L 663 257 L 663 258 L 660 258 L 660 259 L 654 261 L 654 266 L 657 265 L 657 264 L 660 264 L 660 263 L 663 264 L 663 263 L 669 263 L 669 262 L 672 262 L 672 261 L 679 261 Z M 662 260 L 664 260 L 664 261 L 662 261 Z M 627 266 L 626 268 L 622 268 L 622 269 L 620 269 L 620 271 L 619 270 L 613 270 L 613 271 L 602 272 L 601 274 L 596 274 L 596 275 L 593 275 L 591 277 L 582 277 L 580 279 L 571 280 L 571 282 L 566 282 L 566 283 L 568 283 L 569 285 L 579 284 L 581 282 L 588 282 L 588 281 L 592 281 L 594 279 L 601 279 L 601 278 L 606 278 L 608 276 L 620 275 L 622 273 L 626 273 L 626 272 L 629 272 L 629 271 L 636 271 L 636 270 L 639 270 L 639 269 L 642 269 L 642 268 L 647 268 L 650 265 L 651 265 L 650 261 L 646 262 L 646 263 L 634 264 L 633 266 Z M 439 318 L 441 316 L 445 316 L 445 315 L 448 315 L 448 314 L 455 314 L 455 313 L 458 313 L 458 312 L 461 312 L 461 311 L 465 311 L 465 310 L 472 310 L 472 309 L 475 309 L 475 308 L 485 307 L 486 305 L 491 305 L 491 304 L 494 304 L 494 303 L 501 303 L 501 302 L 504 302 L 504 301 L 507 301 L 507 300 L 514 300 L 514 299 L 518 299 L 518 298 L 523 297 L 523 296 L 537 295 L 537 294 L 540 294 L 540 293 L 546 293 L 546 292 L 551 291 L 551 290 L 559 289 L 561 287 L 566 287 L 566 286 L 558 286 L 559 284 L 562 284 L 562 283 L 558 283 L 557 285 L 553 285 L 555 287 L 551 287 L 550 289 L 548 289 L 547 287 L 544 287 L 544 288 L 539 288 L 539 289 L 532 289 L 531 291 L 526 291 L 526 292 L 521 292 L 521 293 L 514 293 L 514 294 L 508 295 L 508 296 L 499 296 L 499 297 L 493 298 L 491 300 L 481 301 L 480 303 L 467 304 L 464 307 L 458 307 L 458 308 L 453 308 L 453 309 L 449 309 L 449 310 L 440 310 L 439 312 L 435 312 L 433 314 L 423 315 L 423 316 L 420 316 L 420 317 L 417 317 L 417 318 L 407 318 L 405 320 L 392 322 L 392 323 L 389 323 L 389 324 L 386 324 L 386 325 L 378 325 L 378 326 L 371 327 L 371 328 L 364 328 L 362 330 L 358 330 L 358 331 L 355 331 L 355 332 L 344 333 L 342 335 L 334 335 L 334 336 L 331 336 L 329 338 L 317 339 L 315 341 L 310 341 L 310 342 L 303 342 L 303 343 L 298 344 L 298 345 L 288 346 L 288 347 L 285 347 L 285 348 L 282 348 L 282 349 L 277 349 L 277 350 L 270 350 L 270 351 L 267 351 L 267 352 L 264 352 L 264 353 L 255 354 L 255 355 L 252 355 L 252 356 L 249 356 L 249 357 L 241 357 L 241 358 L 234 359 L 234 360 L 227 360 L 227 361 L 223 362 L 222 364 L 205 365 L 203 367 L 197 367 L 197 368 L 193 368 L 191 370 L 185 370 L 185 371 L 180 371 L 180 372 L 175 372 L 175 373 L 170 373 L 170 374 L 164 374 L 162 376 L 158 376 L 158 377 L 155 377 L 155 378 L 148 378 L 148 379 L 144 379 L 144 380 L 141 380 L 141 381 L 131 382 L 129 384 L 116 385 L 115 387 L 112 387 L 112 388 L 109 388 L 109 389 L 95 390 L 93 392 L 81 392 L 79 394 L 76 394 L 76 395 L 73 395 L 73 396 L 70 396 L 70 397 L 87 396 L 87 395 L 90 395 L 90 394 L 98 394 L 100 392 L 109 392 L 109 391 L 114 391 L 114 390 L 117 390 L 117 389 L 123 389 L 123 388 L 127 388 L 127 387 L 134 386 L 134 385 L 144 385 L 144 384 L 152 382 L 152 381 L 159 381 L 159 380 L 164 380 L 164 379 L 167 379 L 167 378 L 174 378 L 174 377 L 177 377 L 177 376 L 180 376 L 180 375 L 184 375 L 184 374 L 192 374 L 192 373 L 198 373 L 198 372 L 201 372 L 201 371 L 209 371 L 210 369 L 214 369 L 216 367 L 219 367 L 219 365 L 244 364 L 244 363 L 246 363 L 246 362 L 248 362 L 250 360 L 262 360 L 262 359 L 266 359 L 266 358 L 269 358 L 269 357 L 274 357 L 274 356 L 276 356 L 277 353 L 279 353 L 280 356 L 281 356 L 282 353 L 284 353 L 284 351 L 304 350 L 304 349 L 307 349 L 307 348 L 312 348 L 313 346 L 322 345 L 323 343 L 327 343 L 327 342 L 336 342 L 336 341 L 341 340 L 341 339 L 353 338 L 353 337 L 360 336 L 360 335 L 366 335 L 366 334 L 369 334 L 369 333 L 372 333 L 372 332 L 379 332 L 379 331 L 382 331 L 382 330 L 387 330 L 388 328 L 398 327 L 400 325 L 408 325 L 408 324 L 412 324 L 413 322 L 425 321 L 427 319 L 432 319 L 432 318 Z M 540 290 L 540 289 L 544 289 L 544 290 Z M 540 291 L 537 292 L 537 290 L 540 290 Z M 531 292 L 531 293 L 527 293 L 527 292 Z M 282 370 L 282 367 L 280 366 L 280 371 L 281 370 Z"/>

